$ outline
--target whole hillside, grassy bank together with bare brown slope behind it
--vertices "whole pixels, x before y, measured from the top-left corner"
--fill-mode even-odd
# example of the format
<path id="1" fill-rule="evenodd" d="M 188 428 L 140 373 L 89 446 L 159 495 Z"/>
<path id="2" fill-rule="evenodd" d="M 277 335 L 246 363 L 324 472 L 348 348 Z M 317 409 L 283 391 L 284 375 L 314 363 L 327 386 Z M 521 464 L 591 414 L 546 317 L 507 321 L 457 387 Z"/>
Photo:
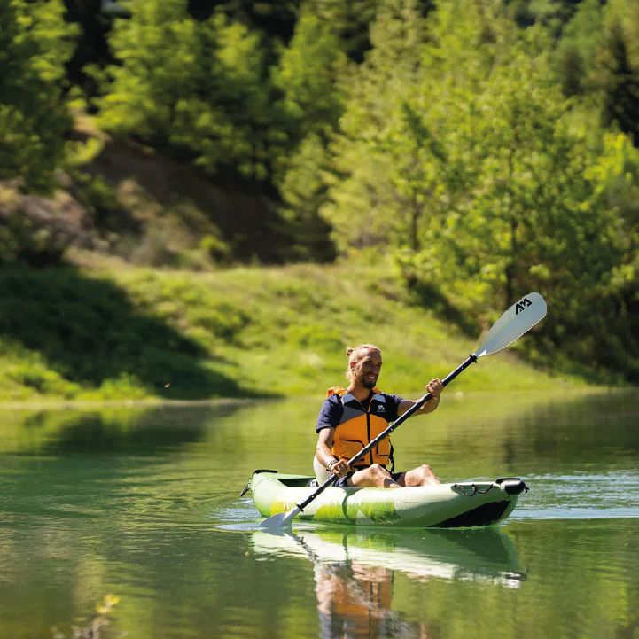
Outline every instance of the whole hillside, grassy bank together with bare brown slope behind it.
<path id="1" fill-rule="evenodd" d="M 54 197 L 4 187 L 5 203 L 54 231 L 66 266 L 0 272 L 0 401 L 317 394 L 342 383 L 344 349 L 358 342 L 385 350 L 389 384 L 418 393 L 425 378 L 463 361 L 479 323 L 486 329 L 499 314 L 478 323 L 427 293 L 416 305 L 381 255 L 221 269 L 284 251 L 267 199 L 223 189 L 88 121 L 78 121 L 75 138 L 99 150 Z M 456 387 L 557 384 L 518 362 L 517 348 Z"/>

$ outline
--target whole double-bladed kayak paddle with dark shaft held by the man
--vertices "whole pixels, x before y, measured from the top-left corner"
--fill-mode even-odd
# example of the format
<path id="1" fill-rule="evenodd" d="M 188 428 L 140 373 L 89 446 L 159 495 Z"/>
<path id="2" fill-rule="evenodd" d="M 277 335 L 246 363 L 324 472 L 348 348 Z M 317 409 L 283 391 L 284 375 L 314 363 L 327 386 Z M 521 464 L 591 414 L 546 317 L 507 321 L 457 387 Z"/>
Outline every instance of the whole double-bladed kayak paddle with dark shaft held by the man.
<path id="1" fill-rule="evenodd" d="M 534 324 L 538 323 L 542 318 L 546 316 L 546 301 L 539 293 L 531 292 L 525 295 L 521 300 L 513 304 L 504 314 L 501 316 L 493 328 L 487 332 L 481 346 L 472 355 L 468 356 L 468 359 L 458 366 L 447 378 L 443 380 L 443 385 L 448 386 L 461 372 L 466 370 L 471 363 L 477 362 L 479 357 L 483 355 L 493 355 L 503 348 L 510 346 L 512 342 L 520 338 L 524 333 L 530 331 Z M 432 400 L 432 394 L 426 393 L 424 397 L 416 401 L 401 417 L 398 417 L 393 424 L 389 425 L 384 432 L 380 432 L 374 440 L 370 442 L 360 450 L 357 455 L 348 460 L 348 465 L 353 466 L 364 455 L 366 455 L 372 448 L 375 448 L 378 443 L 385 437 L 391 434 L 399 425 L 413 415 L 417 410 L 421 409 L 426 401 Z M 259 528 L 284 528 L 292 526 L 292 520 L 304 510 L 309 503 L 311 503 L 316 497 L 322 495 L 323 491 L 329 486 L 334 484 L 339 478 L 337 475 L 326 479 L 322 486 L 318 487 L 315 493 L 309 495 L 302 503 L 297 504 L 292 510 L 287 512 L 278 512 L 275 515 L 264 519 Z"/>

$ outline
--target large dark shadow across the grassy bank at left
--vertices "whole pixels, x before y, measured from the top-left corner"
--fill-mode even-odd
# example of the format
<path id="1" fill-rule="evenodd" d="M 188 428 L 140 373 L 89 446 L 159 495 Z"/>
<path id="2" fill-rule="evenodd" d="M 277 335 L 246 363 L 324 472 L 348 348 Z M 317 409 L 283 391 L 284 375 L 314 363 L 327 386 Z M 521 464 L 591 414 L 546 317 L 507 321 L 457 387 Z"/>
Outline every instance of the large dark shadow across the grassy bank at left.
<path id="1" fill-rule="evenodd" d="M 3 269 L 0 299 L 0 334 L 71 382 L 99 387 L 133 377 L 166 399 L 247 394 L 207 370 L 210 356 L 196 341 L 136 308 L 107 280 L 74 269 Z M 32 377 L 25 374 L 23 383 L 43 383 Z"/>

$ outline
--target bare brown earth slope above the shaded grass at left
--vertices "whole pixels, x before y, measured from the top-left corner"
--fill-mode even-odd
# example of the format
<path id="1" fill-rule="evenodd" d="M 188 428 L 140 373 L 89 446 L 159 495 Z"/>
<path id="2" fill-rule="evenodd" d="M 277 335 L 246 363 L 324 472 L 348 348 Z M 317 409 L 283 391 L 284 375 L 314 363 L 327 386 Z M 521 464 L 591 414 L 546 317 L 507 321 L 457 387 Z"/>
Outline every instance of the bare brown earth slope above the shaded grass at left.
<path id="1" fill-rule="evenodd" d="M 215 183 L 188 163 L 118 139 L 78 116 L 72 135 L 82 166 L 58 172 L 50 196 L 23 195 L 0 181 L 0 221 L 22 216 L 22 260 L 76 264 L 69 249 L 136 266 L 210 270 L 283 260 L 292 232 L 276 202 Z M 4 253 L 8 246 L 3 245 Z"/>

